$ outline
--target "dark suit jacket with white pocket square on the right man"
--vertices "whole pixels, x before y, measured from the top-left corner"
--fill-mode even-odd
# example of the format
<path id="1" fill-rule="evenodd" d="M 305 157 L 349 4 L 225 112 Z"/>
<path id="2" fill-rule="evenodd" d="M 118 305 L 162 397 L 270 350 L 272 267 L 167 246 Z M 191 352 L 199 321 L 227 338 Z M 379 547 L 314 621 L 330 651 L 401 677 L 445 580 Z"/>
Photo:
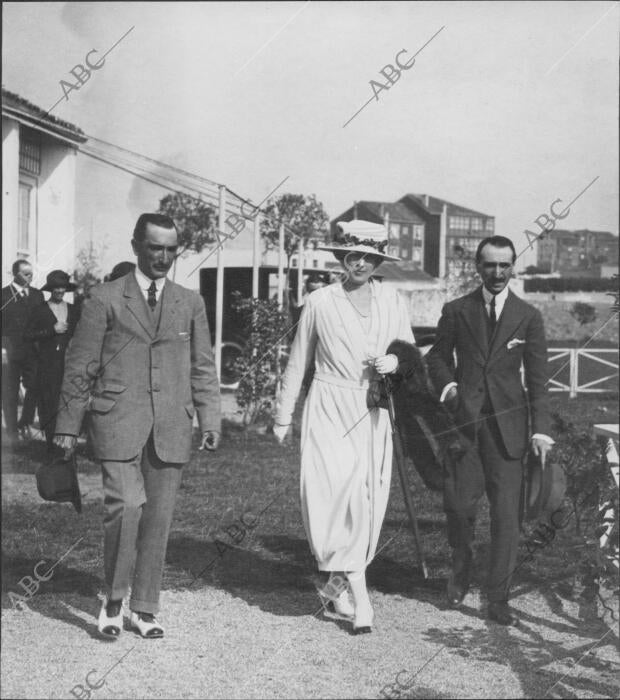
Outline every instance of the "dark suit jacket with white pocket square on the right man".
<path id="1" fill-rule="evenodd" d="M 488 401 L 506 451 L 519 458 L 527 448 L 530 433 L 550 431 L 542 316 L 509 291 L 490 344 L 487 333 L 480 287 L 444 306 L 437 340 L 426 356 L 427 366 L 438 392 L 449 382 L 458 383 L 457 424 L 473 433 L 482 406 Z M 522 363 L 527 395 L 521 381 Z"/>

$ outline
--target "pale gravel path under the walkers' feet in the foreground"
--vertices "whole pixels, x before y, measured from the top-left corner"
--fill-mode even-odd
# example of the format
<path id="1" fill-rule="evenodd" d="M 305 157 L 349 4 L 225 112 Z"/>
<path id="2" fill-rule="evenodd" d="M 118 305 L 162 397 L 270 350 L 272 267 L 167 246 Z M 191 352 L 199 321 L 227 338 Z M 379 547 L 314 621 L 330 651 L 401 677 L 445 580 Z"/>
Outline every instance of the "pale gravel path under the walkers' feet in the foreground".
<path id="1" fill-rule="evenodd" d="M 94 600 L 41 591 L 4 612 L 2 697 L 87 697 L 76 686 L 89 674 L 104 681 L 98 698 L 376 698 L 400 671 L 403 697 L 618 697 L 614 633 L 551 590 L 515 601 L 520 630 L 487 623 L 475 592 L 462 612 L 438 610 L 437 596 L 371 595 L 376 630 L 355 637 L 309 590 L 167 590 L 163 640 L 106 643 Z"/>

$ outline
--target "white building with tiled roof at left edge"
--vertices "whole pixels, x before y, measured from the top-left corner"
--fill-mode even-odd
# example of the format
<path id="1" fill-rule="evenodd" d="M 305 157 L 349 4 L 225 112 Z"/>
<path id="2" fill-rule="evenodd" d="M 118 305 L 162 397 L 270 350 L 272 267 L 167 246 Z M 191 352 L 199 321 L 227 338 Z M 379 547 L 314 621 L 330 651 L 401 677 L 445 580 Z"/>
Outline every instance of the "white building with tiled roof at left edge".
<path id="1" fill-rule="evenodd" d="M 28 260 L 33 286 L 75 265 L 75 167 L 86 141 L 73 124 L 2 90 L 2 284 L 11 265 Z"/>

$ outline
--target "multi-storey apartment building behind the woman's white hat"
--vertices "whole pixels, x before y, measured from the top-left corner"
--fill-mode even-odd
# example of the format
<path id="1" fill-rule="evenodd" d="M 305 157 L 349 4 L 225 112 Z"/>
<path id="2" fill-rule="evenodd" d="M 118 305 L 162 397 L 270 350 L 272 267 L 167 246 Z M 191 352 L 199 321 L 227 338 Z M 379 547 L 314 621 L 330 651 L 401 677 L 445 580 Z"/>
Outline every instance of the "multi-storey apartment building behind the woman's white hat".
<path id="1" fill-rule="evenodd" d="M 362 200 L 331 222 L 365 219 L 383 223 L 389 249 L 405 263 L 432 277 L 474 268 L 478 243 L 495 231 L 495 217 L 426 194 L 406 194 L 398 202 Z"/>

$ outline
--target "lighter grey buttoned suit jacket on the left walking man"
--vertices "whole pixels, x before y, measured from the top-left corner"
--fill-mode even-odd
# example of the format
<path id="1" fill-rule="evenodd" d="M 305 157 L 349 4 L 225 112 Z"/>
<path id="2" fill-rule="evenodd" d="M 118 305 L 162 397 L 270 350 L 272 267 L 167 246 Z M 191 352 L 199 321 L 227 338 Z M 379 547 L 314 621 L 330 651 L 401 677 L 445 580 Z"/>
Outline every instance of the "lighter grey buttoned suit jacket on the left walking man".
<path id="1" fill-rule="evenodd" d="M 202 298 L 166 280 L 157 327 L 133 273 L 91 294 L 67 350 L 56 433 L 78 435 L 88 411 L 96 458 L 131 459 L 153 430 L 161 460 L 187 462 L 195 411 L 203 431 L 221 429 Z"/>

